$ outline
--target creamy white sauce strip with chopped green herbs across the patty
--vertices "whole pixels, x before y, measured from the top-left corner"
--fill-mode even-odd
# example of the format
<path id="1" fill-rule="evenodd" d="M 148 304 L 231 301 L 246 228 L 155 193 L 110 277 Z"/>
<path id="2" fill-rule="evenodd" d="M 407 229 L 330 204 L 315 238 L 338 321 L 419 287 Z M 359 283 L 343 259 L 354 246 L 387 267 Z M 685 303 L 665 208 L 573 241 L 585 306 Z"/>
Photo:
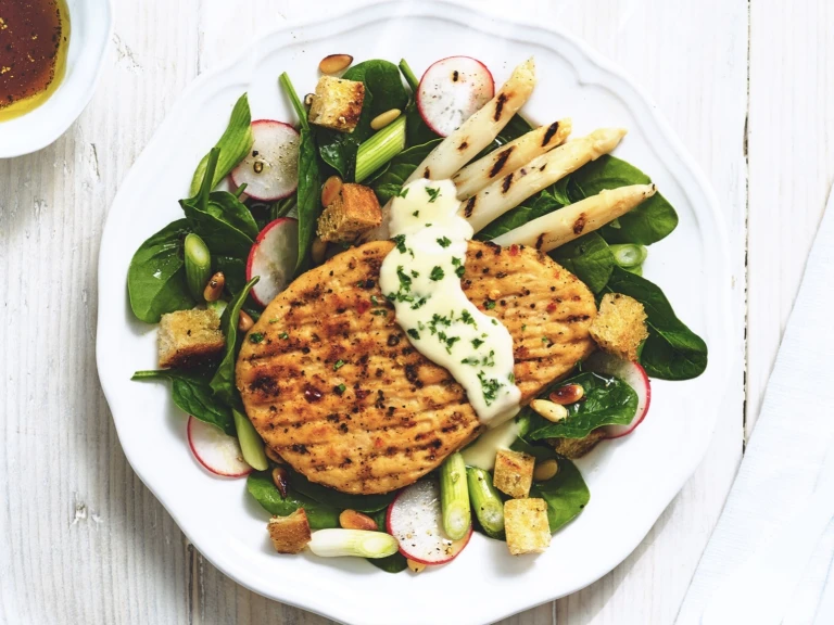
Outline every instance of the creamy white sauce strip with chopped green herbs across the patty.
<path id="1" fill-rule="evenodd" d="M 451 180 L 415 180 L 391 207 L 396 246 L 380 269 L 382 293 L 412 345 L 466 390 L 481 423 L 495 426 L 519 410 L 513 336 L 469 302 L 460 286 L 472 227 L 458 217 Z"/>

